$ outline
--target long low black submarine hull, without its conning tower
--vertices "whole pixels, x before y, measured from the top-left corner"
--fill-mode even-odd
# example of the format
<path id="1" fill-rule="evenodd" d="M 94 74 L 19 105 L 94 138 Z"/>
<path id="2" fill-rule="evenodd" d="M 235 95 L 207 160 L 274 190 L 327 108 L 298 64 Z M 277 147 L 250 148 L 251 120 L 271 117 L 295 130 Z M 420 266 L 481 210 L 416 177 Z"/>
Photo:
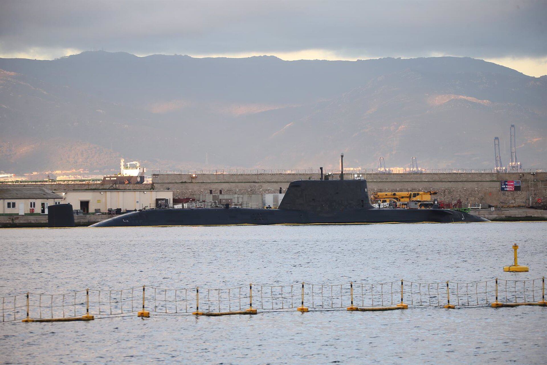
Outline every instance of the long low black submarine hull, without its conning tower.
<path id="1" fill-rule="evenodd" d="M 344 212 L 249 208 L 158 209 L 130 212 L 91 227 L 238 224 L 365 224 L 488 222 L 468 213 L 440 209 L 367 209 Z"/>

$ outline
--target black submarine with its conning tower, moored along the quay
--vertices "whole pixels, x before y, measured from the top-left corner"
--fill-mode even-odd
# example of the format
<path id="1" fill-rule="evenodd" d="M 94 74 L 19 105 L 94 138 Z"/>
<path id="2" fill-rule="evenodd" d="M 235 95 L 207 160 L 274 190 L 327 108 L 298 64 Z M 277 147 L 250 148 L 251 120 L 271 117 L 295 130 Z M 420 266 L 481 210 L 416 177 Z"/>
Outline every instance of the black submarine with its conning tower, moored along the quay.
<path id="1" fill-rule="evenodd" d="M 90 227 L 236 224 L 364 224 L 487 222 L 441 209 L 379 209 L 370 204 L 365 180 L 301 180 L 289 184 L 279 208 L 150 209 L 125 213 Z"/>

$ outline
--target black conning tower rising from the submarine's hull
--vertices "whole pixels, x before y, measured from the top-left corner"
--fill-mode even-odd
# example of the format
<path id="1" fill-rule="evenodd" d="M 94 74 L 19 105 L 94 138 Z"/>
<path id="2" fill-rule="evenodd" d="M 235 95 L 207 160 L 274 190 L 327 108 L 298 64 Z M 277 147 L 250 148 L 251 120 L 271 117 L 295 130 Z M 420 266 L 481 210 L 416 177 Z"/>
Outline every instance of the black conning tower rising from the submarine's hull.
<path id="1" fill-rule="evenodd" d="M 289 184 L 278 209 L 341 212 L 372 208 L 366 180 L 298 180 Z"/>

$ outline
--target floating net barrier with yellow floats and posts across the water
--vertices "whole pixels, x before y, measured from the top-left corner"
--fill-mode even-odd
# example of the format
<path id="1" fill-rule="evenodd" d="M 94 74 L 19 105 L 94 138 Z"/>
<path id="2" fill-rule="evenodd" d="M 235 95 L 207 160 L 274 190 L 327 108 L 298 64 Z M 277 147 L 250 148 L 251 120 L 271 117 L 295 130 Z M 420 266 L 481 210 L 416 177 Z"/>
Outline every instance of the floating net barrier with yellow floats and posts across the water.
<path id="1" fill-rule="evenodd" d="M 126 289 L 39 294 L 0 298 L 1 321 L 92 321 L 99 317 L 135 315 L 254 315 L 257 312 L 345 310 L 387 311 L 408 308 L 493 308 L 547 306 L 545 277 L 531 280 L 422 283 L 398 280 L 336 285 L 301 282 L 231 288 Z M 248 304 L 248 306 L 247 306 Z"/>

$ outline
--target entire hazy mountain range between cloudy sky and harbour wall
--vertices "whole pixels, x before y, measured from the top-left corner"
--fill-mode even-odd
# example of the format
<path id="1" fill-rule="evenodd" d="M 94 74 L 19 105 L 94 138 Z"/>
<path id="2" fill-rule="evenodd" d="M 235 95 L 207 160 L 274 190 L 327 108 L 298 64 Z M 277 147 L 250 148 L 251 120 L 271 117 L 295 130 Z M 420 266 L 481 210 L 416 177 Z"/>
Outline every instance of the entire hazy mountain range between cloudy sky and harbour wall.
<path id="1" fill-rule="evenodd" d="M 0 170 L 545 167 L 547 77 L 456 57 L 283 61 L 85 52 L 0 59 Z M 209 165 L 205 165 L 206 156 Z"/>

